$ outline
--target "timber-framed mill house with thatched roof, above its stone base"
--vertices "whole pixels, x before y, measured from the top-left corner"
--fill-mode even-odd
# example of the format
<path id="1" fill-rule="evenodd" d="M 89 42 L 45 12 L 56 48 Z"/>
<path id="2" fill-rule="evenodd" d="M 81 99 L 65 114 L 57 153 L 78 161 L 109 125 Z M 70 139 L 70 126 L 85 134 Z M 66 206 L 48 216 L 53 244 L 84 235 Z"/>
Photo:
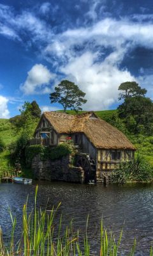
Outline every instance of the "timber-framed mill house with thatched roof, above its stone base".
<path id="1" fill-rule="evenodd" d="M 120 161 L 134 158 L 135 147 L 126 136 L 94 112 L 80 115 L 45 112 L 34 132 L 36 143 L 58 145 L 71 136 L 82 152 L 96 163 L 96 170 L 112 170 Z"/>

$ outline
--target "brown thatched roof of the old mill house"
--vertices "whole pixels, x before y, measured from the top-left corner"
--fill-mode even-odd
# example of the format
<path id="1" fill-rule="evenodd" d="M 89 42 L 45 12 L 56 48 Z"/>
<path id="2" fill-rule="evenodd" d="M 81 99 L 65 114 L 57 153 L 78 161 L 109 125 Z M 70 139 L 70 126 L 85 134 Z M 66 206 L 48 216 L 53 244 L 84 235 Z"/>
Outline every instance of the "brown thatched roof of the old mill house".
<path id="1" fill-rule="evenodd" d="M 80 115 L 44 112 L 43 116 L 50 122 L 57 133 L 84 132 L 96 148 L 135 150 L 133 144 L 122 132 L 98 118 L 94 112 L 86 112 Z"/>

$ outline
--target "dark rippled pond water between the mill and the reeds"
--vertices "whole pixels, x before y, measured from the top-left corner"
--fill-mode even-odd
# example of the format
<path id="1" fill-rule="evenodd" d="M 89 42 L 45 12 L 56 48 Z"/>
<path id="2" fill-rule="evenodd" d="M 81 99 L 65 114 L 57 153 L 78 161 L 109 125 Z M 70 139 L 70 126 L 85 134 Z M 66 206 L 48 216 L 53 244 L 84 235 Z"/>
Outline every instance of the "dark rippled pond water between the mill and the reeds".
<path id="1" fill-rule="evenodd" d="M 10 235 L 9 209 L 18 219 L 18 233 L 22 227 L 22 206 L 29 195 L 29 210 L 34 206 L 34 185 L 0 184 L 0 225 L 4 239 Z M 100 221 L 119 236 L 123 227 L 122 248 L 129 252 L 136 237 L 136 255 L 149 255 L 153 241 L 153 186 L 128 184 L 123 186 L 81 185 L 63 182 L 40 182 L 38 206 L 48 209 L 61 202 L 58 214 L 63 213 L 63 225 L 73 218 L 73 225 L 84 234 L 89 214 L 88 235 L 92 253 L 99 255 Z M 47 203 L 48 202 L 48 203 Z M 57 214 L 57 215 L 58 215 Z M 124 255 L 123 253 L 123 255 Z M 126 255 L 126 253 L 125 253 Z"/>

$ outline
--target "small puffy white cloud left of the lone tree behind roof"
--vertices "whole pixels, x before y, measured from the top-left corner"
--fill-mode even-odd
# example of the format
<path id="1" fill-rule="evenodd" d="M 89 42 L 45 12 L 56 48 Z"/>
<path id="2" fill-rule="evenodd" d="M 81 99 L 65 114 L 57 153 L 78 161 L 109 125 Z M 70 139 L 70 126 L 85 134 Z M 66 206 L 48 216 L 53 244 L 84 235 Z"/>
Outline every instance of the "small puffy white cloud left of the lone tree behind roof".
<path id="1" fill-rule="evenodd" d="M 48 93 L 50 88 L 50 80 L 54 79 L 54 74 L 48 70 L 47 67 L 36 64 L 34 65 L 29 72 L 27 72 L 27 79 L 20 86 L 20 90 L 24 92 L 25 95 L 36 94 L 36 93 Z"/>

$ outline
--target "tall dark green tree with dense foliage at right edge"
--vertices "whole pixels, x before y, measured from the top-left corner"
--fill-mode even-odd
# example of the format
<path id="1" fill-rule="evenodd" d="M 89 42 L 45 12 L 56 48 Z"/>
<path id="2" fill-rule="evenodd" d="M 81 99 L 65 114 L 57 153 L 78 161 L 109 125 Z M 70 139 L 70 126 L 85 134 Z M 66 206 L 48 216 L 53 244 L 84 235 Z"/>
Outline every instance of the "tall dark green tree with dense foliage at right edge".
<path id="1" fill-rule="evenodd" d="M 129 132 L 150 135 L 153 132 L 153 102 L 145 97 L 147 90 L 136 82 L 126 82 L 119 86 L 122 93 L 119 100 L 124 102 L 118 107 L 119 117 L 124 120 Z"/>

